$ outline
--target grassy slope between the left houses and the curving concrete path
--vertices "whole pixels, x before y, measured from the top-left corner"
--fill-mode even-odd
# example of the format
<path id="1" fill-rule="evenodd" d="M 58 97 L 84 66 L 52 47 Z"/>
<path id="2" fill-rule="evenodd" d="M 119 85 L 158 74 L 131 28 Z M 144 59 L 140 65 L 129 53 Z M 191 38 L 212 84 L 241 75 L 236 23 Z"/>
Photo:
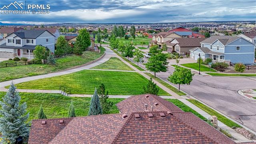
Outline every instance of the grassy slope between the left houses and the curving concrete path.
<path id="1" fill-rule="evenodd" d="M 28 76 L 37 76 L 41 74 L 48 74 L 51 72 L 57 72 L 79 66 L 96 60 L 104 54 L 105 49 L 101 48 L 101 53 L 86 51 L 81 56 L 71 55 L 65 56 L 64 58 L 58 58 L 56 65 L 49 64 L 30 64 L 26 66 L 14 66 L 8 68 L 0 68 L 0 82 L 13 80 L 17 78 L 24 78 Z"/>

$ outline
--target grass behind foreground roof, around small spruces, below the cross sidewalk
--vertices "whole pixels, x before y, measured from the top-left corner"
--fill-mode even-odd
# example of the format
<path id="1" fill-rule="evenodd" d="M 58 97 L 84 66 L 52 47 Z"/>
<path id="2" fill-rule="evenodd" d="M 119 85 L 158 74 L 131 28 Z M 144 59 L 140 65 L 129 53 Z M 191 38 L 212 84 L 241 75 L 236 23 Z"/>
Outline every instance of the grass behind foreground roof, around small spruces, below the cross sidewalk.
<path id="1" fill-rule="evenodd" d="M 0 92 L 0 100 L 4 97 L 5 92 Z M 20 102 L 26 102 L 27 112 L 30 113 L 29 120 L 38 119 L 38 110 L 42 104 L 44 113 L 47 118 L 64 118 L 68 117 L 68 108 L 73 102 L 76 116 L 87 116 L 91 98 L 68 97 L 61 94 L 45 94 L 45 93 L 22 93 L 20 92 Z M 111 114 L 119 113 L 115 104 L 121 102 L 122 98 L 109 98 L 108 101 L 113 102 L 110 110 Z"/>

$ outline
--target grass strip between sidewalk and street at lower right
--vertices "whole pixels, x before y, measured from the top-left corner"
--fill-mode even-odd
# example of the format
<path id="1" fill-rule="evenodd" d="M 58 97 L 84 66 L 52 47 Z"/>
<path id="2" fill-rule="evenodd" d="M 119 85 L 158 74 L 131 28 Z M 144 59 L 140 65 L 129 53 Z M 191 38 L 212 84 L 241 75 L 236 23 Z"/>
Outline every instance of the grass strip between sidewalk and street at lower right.
<path id="1" fill-rule="evenodd" d="M 237 128 L 241 128 L 240 125 L 236 124 L 232 120 L 229 120 L 225 116 L 222 116 L 221 114 L 219 114 L 215 110 L 212 110 L 211 108 L 205 106 L 204 104 L 198 102 L 197 100 L 189 99 L 188 101 L 191 102 L 192 104 L 196 105 L 198 108 L 201 108 L 203 111 L 205 111 L 206 113 L 210 114 L 211 116 L 217 116 L 218 120 L 220 120 L 221 122 L 223 122 L 224 124 L 226 124 L 230 128 L 232 128 L 233 126 L 237 127 Z"/>

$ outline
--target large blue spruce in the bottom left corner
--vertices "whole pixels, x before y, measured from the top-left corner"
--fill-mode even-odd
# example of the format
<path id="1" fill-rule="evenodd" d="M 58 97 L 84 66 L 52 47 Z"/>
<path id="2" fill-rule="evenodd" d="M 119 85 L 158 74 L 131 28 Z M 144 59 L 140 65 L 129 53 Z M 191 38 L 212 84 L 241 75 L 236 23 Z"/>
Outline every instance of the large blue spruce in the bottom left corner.
<path id="1" fill-rule="evenodd" d="M 20 95 L 12 82 L 8 92 L 0 101 L 0 133 L 1 143 L 15 143 L 19 136 L 26 142 L 28 140 L 29 128 L 26 121 L 29 113 L 26 114 L 26 102 L 20 104 Z"/>

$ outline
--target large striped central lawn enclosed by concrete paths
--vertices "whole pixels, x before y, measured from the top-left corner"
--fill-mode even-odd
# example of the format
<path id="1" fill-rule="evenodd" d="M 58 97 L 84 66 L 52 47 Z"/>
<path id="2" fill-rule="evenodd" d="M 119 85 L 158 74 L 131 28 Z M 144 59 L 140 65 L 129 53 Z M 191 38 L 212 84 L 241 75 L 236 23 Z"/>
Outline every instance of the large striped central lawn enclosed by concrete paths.
<path id="1" fill-rule="evenodd" d="M 93 94 L 95 87 L 104 84 L 110 95 L 138 95 L 148 80 L 137 72 L 82 70 L 72 74 L 43 78 L 16 84 L 19 89 L 58 90 L 71 89 L 72 94 Z M 160 88 L 159 95 L 170 96 Z"/>

